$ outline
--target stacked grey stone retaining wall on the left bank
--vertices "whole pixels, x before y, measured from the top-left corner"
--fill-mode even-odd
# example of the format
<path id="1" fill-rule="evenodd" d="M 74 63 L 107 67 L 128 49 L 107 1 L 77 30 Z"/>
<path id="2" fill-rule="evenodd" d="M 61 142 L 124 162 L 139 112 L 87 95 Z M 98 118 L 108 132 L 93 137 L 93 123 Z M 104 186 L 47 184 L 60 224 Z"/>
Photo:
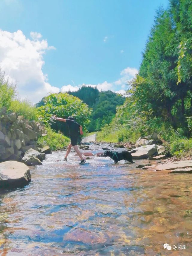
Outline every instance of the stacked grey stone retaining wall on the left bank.
<path id="1" fill-rule="evenodd" d="M 36 141 L 42 133 L 46 133 L 45 125 L 36 121 L 25 120 L 16 113 L 7 113 L 0 109 L 0 162 L 20 160 L 30 148 L 37 150 Z"/>

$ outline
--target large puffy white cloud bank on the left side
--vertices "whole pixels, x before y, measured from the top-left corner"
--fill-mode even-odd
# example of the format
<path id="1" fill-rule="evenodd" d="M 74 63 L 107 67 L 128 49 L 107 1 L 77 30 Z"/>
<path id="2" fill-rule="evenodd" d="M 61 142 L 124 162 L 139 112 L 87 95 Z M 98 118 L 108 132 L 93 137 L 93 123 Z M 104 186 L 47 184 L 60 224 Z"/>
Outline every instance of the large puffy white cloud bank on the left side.
<path id="1" fill-rule="evenodd" d="M 32 40 L 25 37 L 21 30 L 10 33 L 0 30 L 0 66 L 11 81 L 17 83 L 21 98 L 37 103 L 47 93 L 58 93 L 59 88 L 48 83 L 43 74 L 43 54 L 55 49 L 48 46 L 42 35 L 31 32 Z"/>

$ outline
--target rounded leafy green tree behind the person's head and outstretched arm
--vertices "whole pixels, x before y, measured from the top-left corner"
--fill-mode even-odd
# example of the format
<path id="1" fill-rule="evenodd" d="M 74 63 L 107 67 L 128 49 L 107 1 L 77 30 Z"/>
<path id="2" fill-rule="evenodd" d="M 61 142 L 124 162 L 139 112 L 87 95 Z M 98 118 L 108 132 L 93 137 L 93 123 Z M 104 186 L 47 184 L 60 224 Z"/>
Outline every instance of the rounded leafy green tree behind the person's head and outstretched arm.
<path id="1" fill-rule="evenodd" d="M 44 98 L 44 106 L 37 108 L 37 117 L 39 121 L 46 125 L 51 125 L 56 131 L 62 131 L 68 135 L 68 127 L 64 122 L 51 122 L 52 115 L 57 115 L 60 118 L 67 118 L 73 116 L 75 121 L 81 124 L 83 130 L 86 131 L 86 127 L 89 124 L 89 116 L 91 109 L 79 100 L 77 97 L 69 95 L 67 93 L 50 94 Z"/>

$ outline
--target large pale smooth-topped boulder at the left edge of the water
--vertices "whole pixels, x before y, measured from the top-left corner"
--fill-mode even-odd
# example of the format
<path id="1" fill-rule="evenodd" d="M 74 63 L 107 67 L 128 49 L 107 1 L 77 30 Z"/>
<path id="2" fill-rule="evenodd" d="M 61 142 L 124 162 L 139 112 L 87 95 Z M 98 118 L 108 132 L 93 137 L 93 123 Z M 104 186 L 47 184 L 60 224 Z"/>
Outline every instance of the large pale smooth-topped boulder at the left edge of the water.
<path id="1" fill-rule="evenodd" d="M 6 161 L 0 163 L 0 187 L 15 187 L 31 181 L 29 168 L 24 163 Z"/>

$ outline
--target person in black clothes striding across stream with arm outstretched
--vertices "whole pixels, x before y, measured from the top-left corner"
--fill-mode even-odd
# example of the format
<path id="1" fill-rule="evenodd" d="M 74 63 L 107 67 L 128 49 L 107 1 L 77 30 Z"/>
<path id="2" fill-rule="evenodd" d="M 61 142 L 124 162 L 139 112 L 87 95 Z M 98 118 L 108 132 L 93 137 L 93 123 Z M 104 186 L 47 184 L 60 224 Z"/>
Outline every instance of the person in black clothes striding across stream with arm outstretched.
<path id="1" fill-rule="evenodd" d="M 75 152 L 81 159 L 80 164 L 81 165 L 84 164 L 86 162 L 86 160 L 82 157 L 81 152 L 79 151 L 78 145 L 77 145 L 77 141 L 79 139 L 80 134 L 83 135 L 82 126 L 80 124 L 78 124 L 77 122 L 75 122 L 75 120 L 72 116 L 69 116 L 67 119 L 64 119 L 64 118 L 56 117 L 54 115 L 54 116 L 52 116 L 52 118 L 55 120 L 58 120 L 58 121 L 66 122 L 66 124 L 69 127 L 69 137 L 71 139 L 71 143 L 67 147 L 67 152 L 64 157 L 64 161 L 67 161 L 67 156 L 69 155 L 69 153 L 71 151 L 71 147 L 73 147 Z"/>

